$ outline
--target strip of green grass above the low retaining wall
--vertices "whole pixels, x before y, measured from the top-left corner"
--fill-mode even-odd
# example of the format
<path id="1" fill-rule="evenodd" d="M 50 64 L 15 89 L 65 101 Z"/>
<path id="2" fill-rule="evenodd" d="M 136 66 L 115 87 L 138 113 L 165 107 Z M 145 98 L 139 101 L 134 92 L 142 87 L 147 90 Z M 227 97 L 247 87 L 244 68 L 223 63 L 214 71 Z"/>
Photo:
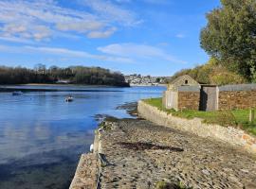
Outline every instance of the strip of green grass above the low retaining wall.
<path id="1" fill-rule="evenodd" d="M 248 121 L 249 110 L 234 110 L 234 111 L 216 111 L 216 112 L 201 112 L 201 111 L 182 111 L 164 109 L 162 106 L 162 98 L 150 98 L 144 100 L 146 103 L 155 106 L 161 111 L 172 113 L 174 116 L 192 119 L 194 117 L 204 119 L 205 123 L 219 124 L 221 126 L 232 126 L 246 130 L 256 136 L 256 120 Z"/>

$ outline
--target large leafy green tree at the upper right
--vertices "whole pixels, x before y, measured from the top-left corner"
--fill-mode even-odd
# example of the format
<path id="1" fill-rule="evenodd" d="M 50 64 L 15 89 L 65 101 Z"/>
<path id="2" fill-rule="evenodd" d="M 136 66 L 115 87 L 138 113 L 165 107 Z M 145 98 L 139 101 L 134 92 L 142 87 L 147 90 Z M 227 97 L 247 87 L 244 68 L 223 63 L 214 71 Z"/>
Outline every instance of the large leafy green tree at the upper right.
<path id="1" fill-rule="evenodd" d="M 256 81 L 256 1 L 221 0 L 207 14 L 201 46 L 230 71 Z"/>

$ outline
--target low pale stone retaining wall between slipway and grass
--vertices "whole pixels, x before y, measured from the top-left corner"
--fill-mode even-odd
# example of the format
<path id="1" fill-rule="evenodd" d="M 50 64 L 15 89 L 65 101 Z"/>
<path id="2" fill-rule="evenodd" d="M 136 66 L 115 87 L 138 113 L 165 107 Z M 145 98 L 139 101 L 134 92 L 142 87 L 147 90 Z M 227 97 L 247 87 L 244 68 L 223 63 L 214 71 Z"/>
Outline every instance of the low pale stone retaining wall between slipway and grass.
<path id="1" fill-rule="evenodd" d="M 200 118 L 184 119 L 176 117 L 167 112 L 160 111 L 142 100 L 138 101 L 137 111 L 140 117 L 157 125 L 187 131 L 205 138 L 210 137 L 221 140 L 256 154 L 256 137 L 247 134 L 242 129 L 205 124 Z"/>

